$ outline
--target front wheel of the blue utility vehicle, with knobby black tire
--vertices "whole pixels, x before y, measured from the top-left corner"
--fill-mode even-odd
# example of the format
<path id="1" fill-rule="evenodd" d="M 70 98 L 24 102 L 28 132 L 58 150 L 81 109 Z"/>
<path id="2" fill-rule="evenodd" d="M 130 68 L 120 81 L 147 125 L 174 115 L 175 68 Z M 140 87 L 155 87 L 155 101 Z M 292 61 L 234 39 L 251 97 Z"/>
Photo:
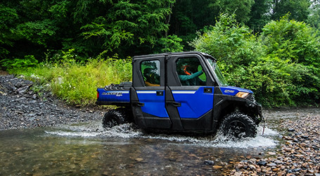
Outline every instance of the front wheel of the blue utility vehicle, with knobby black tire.
<path id="1" fill-rule="evenodd" d="M 220 126 L 222 134 L 226 137 L 241 139 L 244 137 L 255 137 L 257 125 L 248 115 L 241 112 L 234 112 L 226 115 Z"/>

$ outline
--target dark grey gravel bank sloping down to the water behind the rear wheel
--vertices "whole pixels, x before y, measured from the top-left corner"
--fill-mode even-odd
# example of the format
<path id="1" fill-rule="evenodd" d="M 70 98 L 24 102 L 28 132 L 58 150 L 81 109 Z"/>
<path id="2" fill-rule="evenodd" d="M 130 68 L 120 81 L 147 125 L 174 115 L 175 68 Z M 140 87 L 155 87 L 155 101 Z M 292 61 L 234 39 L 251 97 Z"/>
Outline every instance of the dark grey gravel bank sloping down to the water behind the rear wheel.
<path id="1" fill-rule="evenodd" d="M 0 75 L 0 130 L 45 127 L 100 120 L 93 108 L 66 106 L 50 92 L 34 92 L 33 82 L 13 75 Z"/>

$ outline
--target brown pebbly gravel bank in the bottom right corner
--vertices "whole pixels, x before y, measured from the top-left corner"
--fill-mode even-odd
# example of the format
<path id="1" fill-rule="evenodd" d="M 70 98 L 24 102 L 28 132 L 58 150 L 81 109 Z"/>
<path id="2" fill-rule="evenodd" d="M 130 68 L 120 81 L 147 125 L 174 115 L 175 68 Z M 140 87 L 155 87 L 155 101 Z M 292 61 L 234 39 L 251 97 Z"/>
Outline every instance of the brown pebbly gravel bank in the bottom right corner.
<path id="1" fill-rule="evenodd" d="M 279 148 L 236 162 L 228 175 L 320 176 L 320 111 L 294 116 L 274 117 L 282 134 Z"/>

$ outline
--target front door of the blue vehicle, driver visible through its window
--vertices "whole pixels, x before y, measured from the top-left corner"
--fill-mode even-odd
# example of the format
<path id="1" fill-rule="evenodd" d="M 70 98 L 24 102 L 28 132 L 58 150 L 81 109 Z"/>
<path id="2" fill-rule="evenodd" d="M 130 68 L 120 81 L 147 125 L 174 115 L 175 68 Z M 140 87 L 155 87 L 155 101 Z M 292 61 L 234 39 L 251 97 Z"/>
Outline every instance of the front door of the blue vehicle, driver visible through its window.
<path id="1" fill-rule="evenodd" d="M 168 56 L 166 75 L 169 117 L 179 119 L 184 130 L 212 130 L 215 87 L 202 56 Z"/>

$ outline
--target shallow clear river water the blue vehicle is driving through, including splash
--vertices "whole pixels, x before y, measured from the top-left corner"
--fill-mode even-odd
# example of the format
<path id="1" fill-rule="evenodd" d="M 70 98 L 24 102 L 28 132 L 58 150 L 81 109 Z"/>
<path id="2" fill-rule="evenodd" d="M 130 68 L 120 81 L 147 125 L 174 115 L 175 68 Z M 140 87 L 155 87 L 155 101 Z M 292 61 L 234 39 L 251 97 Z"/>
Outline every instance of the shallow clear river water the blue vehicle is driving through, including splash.
<path id="1" fill-rule="evenodd" d="M 103 129 L 101 122 L 3 130 L 0 175 L 221 175 L 233 162 L 277 147 L 279 122 L 299 115 L 265 111 L 264 135 L 259 127 L 257 137 L 238 142 L 219 134 L 146 134 L 132 124 Z"/>

